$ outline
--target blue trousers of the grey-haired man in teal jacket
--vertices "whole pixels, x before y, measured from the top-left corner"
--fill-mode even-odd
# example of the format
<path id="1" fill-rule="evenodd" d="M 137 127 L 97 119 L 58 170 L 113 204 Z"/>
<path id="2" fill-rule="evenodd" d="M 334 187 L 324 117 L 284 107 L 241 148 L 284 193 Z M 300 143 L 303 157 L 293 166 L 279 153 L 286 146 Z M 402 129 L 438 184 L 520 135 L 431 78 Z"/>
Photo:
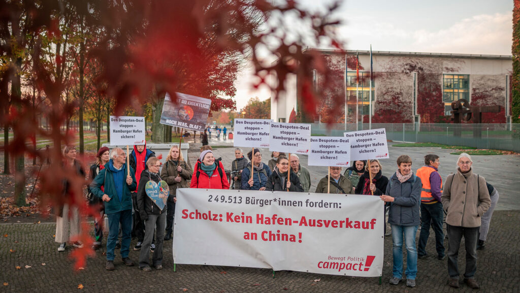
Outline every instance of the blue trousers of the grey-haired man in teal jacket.
<path id="1" fill-rule="evenodd" d="M 120 211 L 107 214 L 108 217 L 108 239 L 107 239 L 107 261 L 114 260 L 115 242 L 118 240 L 119 224 L 123 233 L 121 240 L 121 257 L 127 258 L 130 251 L 132 233 L 132 210 Z"/>

